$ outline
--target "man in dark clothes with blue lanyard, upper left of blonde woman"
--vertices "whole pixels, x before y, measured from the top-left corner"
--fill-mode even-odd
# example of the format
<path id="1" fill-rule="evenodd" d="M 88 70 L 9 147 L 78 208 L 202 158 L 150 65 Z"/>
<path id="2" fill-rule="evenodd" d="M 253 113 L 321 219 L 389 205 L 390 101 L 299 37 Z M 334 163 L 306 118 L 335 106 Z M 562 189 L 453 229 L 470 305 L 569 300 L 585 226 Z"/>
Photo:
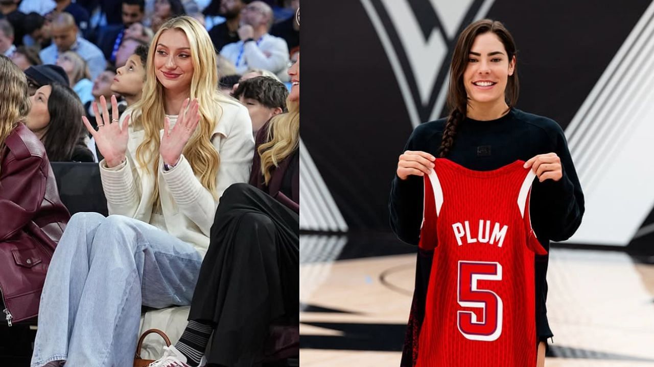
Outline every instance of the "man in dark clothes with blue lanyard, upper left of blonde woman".
<path id="1" fill-rule="evenodd" d="M 133 24 L 143 22 L 145 2 L 143 0 L 122 0 L 122 25 L 112 25 L 104 28 L 98 39 L 98 45 L 105 58 L 111 63 L 116 62 L 116 52 L 122 40 L 127 38 L 127 29 Z M 148 41 L 149 42 L 149 41 Z"/>

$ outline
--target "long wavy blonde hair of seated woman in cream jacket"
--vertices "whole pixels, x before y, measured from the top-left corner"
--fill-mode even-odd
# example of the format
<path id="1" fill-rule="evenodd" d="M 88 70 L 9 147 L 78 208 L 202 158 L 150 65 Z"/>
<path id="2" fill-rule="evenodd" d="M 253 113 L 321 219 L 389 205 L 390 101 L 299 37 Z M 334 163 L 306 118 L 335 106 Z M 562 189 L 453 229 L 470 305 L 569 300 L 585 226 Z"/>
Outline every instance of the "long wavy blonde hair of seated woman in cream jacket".
<path id="1" fill-rule="evenodd" d="M 136 150 L 136 160 L 147 172 L 154 174 L 154 195 L 152 202 L 159 199 L 157 180 L 159 167 L 160 130 L 163 129 L 165 112 L 163 108 L 164 88 L 156 77 L 154 56 L 156 44 L 167 29 L 179 29 L 186 35 L 190 44 L 190 56 L 193 63 L 193 76 L 190 86 L 190 98 L 198 99 L 200 121 L 198 129 L 184 147 L 184 157 L 199 176 L 200 183 L 211 191 L 217 199 L 216 176 L 220 166 L 220 155 L 211 144 L 211 135 L 220 121 L 222 108 L 220 103 L 232 103 L 228 97 L 218 92 L 218 74 L 216 72 L 216 53 L 206 29 L 190 16 L 180 16 L 165 22 L 154 35 L 146 66 L 147 76 L 143 97 L 133 106 L 133 128 L 144 130 L 145 138 Z M 154 171 L 149 161 L 154 160 Z"/>

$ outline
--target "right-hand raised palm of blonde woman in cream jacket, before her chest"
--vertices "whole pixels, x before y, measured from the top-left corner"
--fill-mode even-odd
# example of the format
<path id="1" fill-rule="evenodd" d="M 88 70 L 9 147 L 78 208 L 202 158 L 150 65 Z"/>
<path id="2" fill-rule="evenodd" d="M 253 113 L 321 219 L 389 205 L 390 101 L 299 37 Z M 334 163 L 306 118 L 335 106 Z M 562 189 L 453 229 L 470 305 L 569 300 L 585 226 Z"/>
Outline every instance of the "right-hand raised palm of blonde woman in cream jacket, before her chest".
<path id="1" fill-rule="evenodd" d="M 171 129 L 170 120 L 166 117 L 163 124 L 163 136 L 159 153 L 162 155 L 163 163 L 169 166 L 177 165 L 179 157 L 184 151 L 186 142 L 191 138 L 198 127 L 200 120 L 198 100 L 194 99 L 189 104 L 187 98 L 182 103 L 182 110 L 177 115 L 177 122 Z"/>

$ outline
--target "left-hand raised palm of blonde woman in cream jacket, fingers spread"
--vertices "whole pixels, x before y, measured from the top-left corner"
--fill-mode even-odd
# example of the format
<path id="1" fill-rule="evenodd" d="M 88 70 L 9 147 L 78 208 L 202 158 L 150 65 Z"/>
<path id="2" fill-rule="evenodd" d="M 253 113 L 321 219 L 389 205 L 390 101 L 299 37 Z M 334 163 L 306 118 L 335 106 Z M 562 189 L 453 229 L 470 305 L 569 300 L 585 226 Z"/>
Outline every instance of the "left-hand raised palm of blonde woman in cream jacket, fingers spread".
<path id="1" fill-rule="evenodd" d="M 107 108 L 107 100 L 105 96 L 100 97 L 100 104 L 102 105 L 102 114 L 100 114 L 97 103 L 93 103 L 93 112 L 95 112 L 95 122 L 97 122 L 97 131 L 93 128 L 86 116 L 82 116 L 82 121 L 86 125 L 86 129 L 95 139 L 97 149 L 105 157 L 107 167 L 116 167 L 125 160 L 125 153 L 127 152 L 128 142 L 128 123 L 129 115 L 120 126 L 118 118 L 118 102 L 116 96 L 111 96 L 111 119 L 109 118 L 109 109 Z"/>

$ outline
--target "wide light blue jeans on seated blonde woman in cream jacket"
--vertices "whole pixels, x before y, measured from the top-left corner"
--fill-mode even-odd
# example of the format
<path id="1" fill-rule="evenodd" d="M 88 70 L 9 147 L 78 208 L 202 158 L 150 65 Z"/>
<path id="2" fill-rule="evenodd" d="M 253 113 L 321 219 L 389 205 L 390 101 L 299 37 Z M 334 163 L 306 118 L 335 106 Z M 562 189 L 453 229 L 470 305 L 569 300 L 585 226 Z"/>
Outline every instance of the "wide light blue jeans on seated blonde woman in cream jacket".
<path id="1" fill-rule="evenodd" d="M 54 251 L 31 366 L 131 367 L 141 305 L 188 305 L 198 251 L 152 225 L 73 215 Z"/>

